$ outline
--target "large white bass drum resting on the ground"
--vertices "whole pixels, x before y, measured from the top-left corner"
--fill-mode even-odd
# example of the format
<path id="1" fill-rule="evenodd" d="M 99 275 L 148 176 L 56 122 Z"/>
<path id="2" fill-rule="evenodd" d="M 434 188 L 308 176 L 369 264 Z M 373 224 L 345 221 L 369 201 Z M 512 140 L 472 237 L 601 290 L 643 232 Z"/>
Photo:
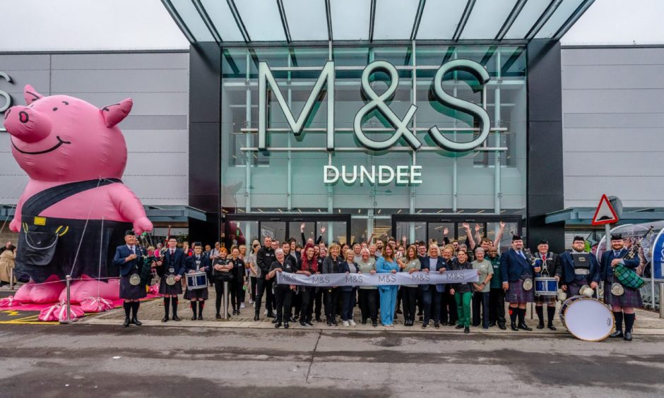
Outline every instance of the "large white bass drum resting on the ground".
<path id="1" fill-rule="evenodd" d="M 560 307 L 560 320 L 574 337 L 586 342 L 606 339 L 615 326 L 610 308 L 586 296 L 568 298 Z"/>

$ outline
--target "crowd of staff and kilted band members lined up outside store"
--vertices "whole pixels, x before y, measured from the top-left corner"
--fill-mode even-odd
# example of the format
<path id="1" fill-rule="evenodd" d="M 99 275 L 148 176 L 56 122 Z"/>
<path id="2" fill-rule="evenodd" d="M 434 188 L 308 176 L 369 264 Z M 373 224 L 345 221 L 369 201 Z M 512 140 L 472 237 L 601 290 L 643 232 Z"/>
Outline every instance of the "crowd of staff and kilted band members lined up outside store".
<path id="1" fill-rule="evenodd" d="M 601 281 L 615 283 L 612 270 L 617 265 L 636 268 L 639 260 L 625 258 L 622 236 L 612 236 L 613 251 L 604 253 L 600 262 L 585 252 L 586 241 L 581 236 L 574 238 L 569 251 L 557 255 L 549 251 L 546 240 L 539 241 L 533 253 L 525 250 L 521 236 L 511 237 L 511 246 L 499 253 L 505 224 L 500 223 L 495 239 L 480 236 L 480 226 L 475 227 L 475 236 L 466 223 L 466 241 L 461 243 L 449 239 L 447 232 L 441 242 L 430 240 L 407 243 L 405 237 L 375 242 L 333 242 L 329 245 L 322 235 L 302 241 L 288 239 L 276 241 L 264 236 L 263 242 L 253 241 L 245 245 L 232 246 L 230 251 L 219 242 L 213 247 L 196 242 L 189 247 L 187 242 L 179 245 L 170 236 L 165 248 L 148 248 L 148 255 L 155 255 L 153 266 L 159 275 L 159 292 L 164 296 L 165 315 L 162 322 L 180 320 L 177 315 L 178 296 L 184 287 L 184 299 L 191 303 L 192 320 L 203 319 L 203 308 L 208 299 L 208 286 L 201 289 L 186 289 L 183 278 L 194 273 L 204 273 L 209 286 L 216 293 L 215 317 L 230 318 L 241 315 L 245 301 L 254 314 L 254 320 L 272 318 L 275 327 L 288 328 L 293 322 L 301 327 L 311 327 L 314 321 L 329 327 L 341 323 L 344 327 L 371 324 L 377 327 L 393 327 L 398 317 L 403 325 L 413 327 L 456 327 L 469 333 L 470 327 L 499 327 L 507 329 L 508 318 L 505 303 L 509 303 L 509 327 L 511 330 L 532 330 L 525 322 L 526 304 L 535 302 L 538 329 L 548 327 L 556 330 L 553 318 L 556 310 L 555 296 L 536 296 L 532 279 L 540 276 L 555 277 L 559 287 L 570 296 L 579 294 L 583 285 L 595 290 Z M 302 226 L 302 230 L 304 226 Z M 121 298 L 126 301 L 125 326 L 140 325 L 136 318 L 138 299 L 145 291 L 132 289 L 132 272 L 138 272 L 136 237 L 129 233 L 126 245 L 119 246 L 116 261 L 121 267 Z M 373 287 L 325 286 L 305 287 L 277 284 L 279 272 L 304 274 L 380 274 L 396 272 L 439 272 L 447 270 L 477 270 L 478 282 L 454 284 L 405 284 L 402 286 L 379 285 Z M 132 271 L 133 270 L 133 271 Z M 530 284 L 530 285 L 528 285 Z M 634 308 L 641 307 L 639 291 L 624 287 L 625 294 L 611 293 L 610 286 L 604 289 L 604 300 L 612 306 L 616 320 L 616 332 L 611 337 L 632 339 Z M 222 315 L 222 297 L 230 296 L 232 313 Z M 263 307 L 264 304 L 264 307 Z M 359 310 L 356 311 L 355 307 Z M 134 314 L 131 315 L 131 310 Z M 544 308 L 546 308 L 546 315 Z M 170 310 L 172 309 L 172 315 Z M 357 316 L 359 315 L 359 316 Z M 624 332 L 623 332 L 624 319 Z"/>

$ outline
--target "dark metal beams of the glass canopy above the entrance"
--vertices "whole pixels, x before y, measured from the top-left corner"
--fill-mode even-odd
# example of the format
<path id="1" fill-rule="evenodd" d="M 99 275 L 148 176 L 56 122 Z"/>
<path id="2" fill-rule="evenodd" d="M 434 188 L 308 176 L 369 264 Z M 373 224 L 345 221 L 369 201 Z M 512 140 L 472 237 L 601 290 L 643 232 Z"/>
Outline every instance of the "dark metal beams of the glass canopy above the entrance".
<path id="1" fill-rule="evenodd" d="M 215 23 L 213 22 L 213 19 L 210 18 L 210 15 L 208 14 L 208 11 L 206 10 L 205 5 L 201 0 L 189 0 L 191 3 L 194 5 L 196 8 L 196 11 L 198 11 L 199 16 L 201 17 L 202 23 L 205 25 L 207 30 L 209 30 L 211 37 L 213 37 L 214 41 L 217 42 L 218 44 L 223 44 L 224 46 L 227 46 L 227 44 L 232 44 L 232 43 L 238 43 L 238 42 L 233 42 L 230 40 L 224 40 L 223 35 L 220 35 L 220 31 L 218 28 L 215 26 Z M 223 1 L 223 0 L 219 0 Z M 297 40 L 292 40 L 292 35 L 290 32 L 290 28 L 288 25 L 288 18 L 287 18 L 287 13 L 286 9 L 284 6 L 284 1 L 285 0 L 274 0 L 276 1 L 276 4 L 278 6 L 279 10 L 279 16 L 281 18 L 281 25 L 283 26 L 283 32 L 285 34 L 285 42 L 289 44 L 305 44 L 307 42 L 298 42 Z M 287 1 L 287 0 L 286 0 Z M 327 23 L 327 36 L 328 36 L 328 42 L 333 42 L 334 40 L 334 32 L 332 30 L 332 13 L 331 13 L 331 0 L 311 0 L 311 1 L 321 1 L 324 4 L 325 8 L 325 18 L 326 18 L 326 23 Z M 468 42 L 468 43 L 489 43 L 489 44 L 527 44 L 530 40 L 533 40 L 533 38 L 540 32 L 540 30 L 543 28 L 543 26 L 546 25 L 546 23 L 550 20 L 550 18 L 556 13 L 558 10 L 559 6 L 564 3 L 564 1 L 568 0 L 551 0 L 550 4 L 545 8 L 543 13 L 535 20 L 533 25 L 530 27 L 528 30 L 528 33 L 521 39 L 517 40 L 504 40 L 504 37 L 507 32 L 509 32 L 510 28 L 514 24 L 515 20 L 518 18 L 519 14 L 523 10 L 523 8 L 526 6 L 526 3 L 528 0 L 518 0 L 516 1 L 516 4 L 514 4 L 513 8 L 509 12 L 508 16 L 506 17 L 504 23 L 502 23 L 501 28 L 497 32 L 497 34 L 494 37 L 480 37 L 478 40 L 460 40 L 460 37 L 463 35 L 463 30 L 466 28 L 466 23 L 468 23 L 468 18 L 470 18 L 470 14 L 475 12 L 482 12 L 478 8 L 475 7 L 476 0 L 468 0 L 468 3 L 466 4 L 466 7 L 463 10 L 463 13 L 461 14 L 461 18 L 459 19 L 456 29 L 454 30 L 453 37 L 451 37 L 451 40 L 449 39 L 442 39 L 441 40 L 434 40 L 435 42 L 447 42 L 450 44 L 453 43 L 458 43 L 458 42 Z M 233 19 L 235 20 L 235 24 L 237 25 L 237 29 L 239 30 L 240 34 L 242 35 L 242 38 L 244 40 L 244 44 L 249 44 L 249 43 L 259 43 L 261 45 L 269 43 L 269 42 L 281 42 L 283 43 L 283 40 L 268 40 L 266 42 L 258 42 L 258 41 L 252 41 L 251 37 L 249 36 L 249 32 L 247 30 L 247 27 L 244 25 L 244 22 L 242 20 L 242 16 L 240 15 L 238 8 L 235 4 L 235 0 L 226 0 L 225 1 L 230 13 L 233 16 Z M 579 18 L 585 13 L 588 8 L 591 7 L 593 4 L 594 0 L 583 0 L 581 4 L 567 17 L 564 18 L 564 23 L 558 27 L 557 30 L 555 30 L 555 34 L 552 35 L 552 37 L 548 37 L 550 40 L 559 40 L 573 25 L 576 23 Z M 417 32 L 420 29 L 420 22 L 422 21 L 422 15 L 425 13 L 425 6 L 426 6 L 427 0 L 420 0 L 419 4 L 417 4 L 417 12 L 415 13 L 415 19 L 413 20 L 413 27 L 410 29 L 410 37 L 403 37 L 403 40 L 400 41 L 414 41 L 417 40 Z M 196 43 L 198 40 L 196 40 L 196 37 L 191 32 L 191 28 L 187 25 L 187 21 L 182 18 L 182 15 L 178 12 L 177 7 L 173 5 L 172 0 L 162 0 L 162 4 L 164 4 L 165 8 L 167 11 L 170 13 L 172 16 L 173 20 L 177 24 L 178 28 L 182 30 L 182 33 L 186 37 L 187 40 L 191 43 Z M 222 5 L 223 6 L 223 5 Z M 369 10 L 369 26 L 367 27 L 369 30 L 369 37 L 368 37 L 368 42 L 382 42 L 383 40 L 377 40 L 376 37 L 374 37 L 374 27 L 376 23 L 376 10 L 377 7 L 379 6 L 377 0 L 370 0 L 369 2 L 370 10 Z M 487 18 L 491 18 L 491 16 L 488 16 Z M 198 23 L 198 21 L 192 21 Z M 276 39 L 276 38 L 275 38 Z M 419 40 L 418 40 L 419 41 Z M 431 40 L 429 40 L 431 41 Z M 357 42 L 362 42 L 358 40 Z M 309 42 L 310 43 L 310 42 Z M 316 41 L 315 43 L 320 43 L 320 41 Z"/>

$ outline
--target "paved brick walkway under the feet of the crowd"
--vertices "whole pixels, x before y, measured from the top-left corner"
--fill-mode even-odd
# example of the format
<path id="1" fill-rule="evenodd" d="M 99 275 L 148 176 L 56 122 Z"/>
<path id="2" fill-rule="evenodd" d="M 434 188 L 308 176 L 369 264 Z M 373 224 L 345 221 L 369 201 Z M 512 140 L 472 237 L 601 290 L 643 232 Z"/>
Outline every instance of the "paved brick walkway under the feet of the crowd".
<path id="1" fill-rule="evenodd" d="M 248 297 L 248 295 L 247 295 Z M 138 319 L 143 322 L 144 325 L 150 326 L 163 326 L 163 327 L 228 327 L 228 328 L 254 328 L 254 329 L 266 329 L 274 328 L 271 318 L 266 318 L 262 314 L 261 310 L 261 320 L 254 321 L 254 308 L 245 302 L 244 305 L 246 308 L 240 310 L 241 315 L 231 316 L 228 320 L 216 320 L 215 319 L 215 291 L 210 289 L 210 299 L 206 301 L 206 308 L 203 310 L 203 320 L 191 320 L 191 309 L 189 308 L 189 301 L 183 300 L 182 296 L 179 299 L 179 306 L 177 310 L 177 315 L 182 318 L 180 322 L 168 321 L 161 322 L 161 319 L 164 316 L 164 306 L 161 298 L 144 301 L 141 303 L 141 309 L 138 312 Z M 264 303 L 263 303 L 264 307 Z M 558 304 L 557 310 L 560 309 Z M 538 330 L 535 326 L 538 324 L 537 315 L 532 314 L 534 319 L 530 319 L 530 305 L 527 308 L 526 313 L 526 323 L 533 328 L 533 332 L 513 332 L 509 330 L 500 330 L 498 327 L 490 327 L 489 330 L 483 330 L 482 327 L 470 327 L 470 332 L 472 333 L 490 333 L 490 334 L 524 334 L 524 333 L 539 333 L 539 334 L 568 334 L 567 329 L 562 326 L 558 313 L 554 318 L 554 325 L 557 327 L 556 331 L 549 330 L 547 328 Z M 378 327 L 372 327 L 372 325 L 361 325 L 360 324 L 360 310 L 355 308 L 355 322 L 357 325 L 355 327 L 343 327 L 339 322 L 338 327 L 328 327 L 325 322 L 313 322 L 313 327 L 302 327 L 298 322 L 292 322 L 290 327 L 292 329 L 308 329 L 308 330 L 389 330 L 389 331 L 398 331 L 398 332 L 425 332 L 425 333 L 440 333 L 440 332 L 454 332 L 454 333 L 463 333 L 463 330 L 455 329 L 453 326 L 441 326 L 438 329 L 433 327 L 433 323 L 427 329 L 422 329 L 420 326 L 421 322 L 415 322 L 413 327 L 407 327 L 403 325 L 403 315 L 397 315 L 397 320 L 394 322 L 394 327 L 383 327 L 380 325 Z M 124 309 L 118 308 L 115 310 L 107 311 L 105 313 L 100 313 L 97 315 L 85 316 L 79 322 L 86 324 L 94 325 L 121 325 L 124 320 Z M 636 324 L 634 325 L 634 335 L 664 335 L 664 319 L 659 318 L 658 313 L 647 310 L 637 310 L 636 315 Z"/>

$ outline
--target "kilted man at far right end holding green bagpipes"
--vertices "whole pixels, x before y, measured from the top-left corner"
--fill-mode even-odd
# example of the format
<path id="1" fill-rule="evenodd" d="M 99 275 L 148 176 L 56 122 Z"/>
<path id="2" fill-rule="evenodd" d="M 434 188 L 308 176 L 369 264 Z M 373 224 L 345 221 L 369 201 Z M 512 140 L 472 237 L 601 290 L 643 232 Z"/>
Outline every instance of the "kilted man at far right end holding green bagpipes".
<path id="1" fill-rule="evenodd" d="M 615 318 L 615 332 L 610 337 L 624 337 L 628 342 L 632 341 L 632 326 L 634 326 L 634 308 L 641 308 L 644 302 L 641 301 L 641 293 L 638 289 L 632 289 L 618 283 L 614 279 L 613 272 L 618 265 L 624 265 L 628 268 L 639 266 L 639 257 L 634 259 L 624 258 L 627 255 L 627 249 L 624 248 L 622 234 L 611 235 L 612 250 L 606 251 L 602 255 L 600 262 L 600 278 L 604 281 L 604 303 L 611 306 L 613 317 Z M 617 288 L 612 291 L 613 286 Z M 622 292 L 622 293 L 621 293 Z M 622 320 L 624 318 L 625 330 L 622 332 Z"/>

